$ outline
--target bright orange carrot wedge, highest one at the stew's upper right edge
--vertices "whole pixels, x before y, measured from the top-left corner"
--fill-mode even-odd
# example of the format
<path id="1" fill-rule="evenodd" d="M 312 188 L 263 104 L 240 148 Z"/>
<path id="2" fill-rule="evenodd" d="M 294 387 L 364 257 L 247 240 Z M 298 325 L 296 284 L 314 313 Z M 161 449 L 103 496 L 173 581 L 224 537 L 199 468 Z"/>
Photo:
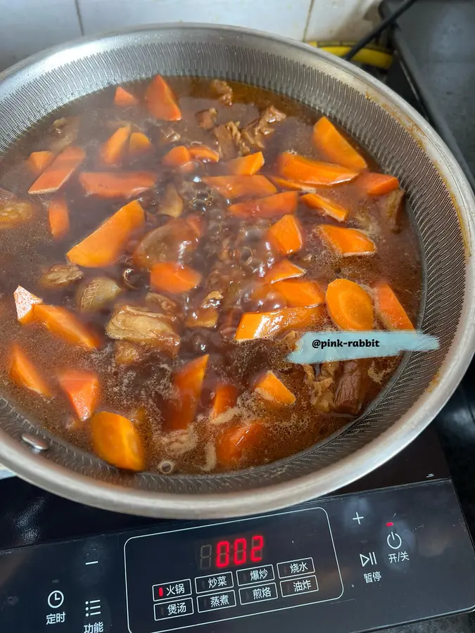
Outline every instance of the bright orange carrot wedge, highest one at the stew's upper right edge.
<path id="1" fill-rule="evenodd" d="M 317 150 L 330 162 L 355 172 L 367 169 L 366 160 L 327 117 L 322 117 L 313 126 L 312 140 Z"/>

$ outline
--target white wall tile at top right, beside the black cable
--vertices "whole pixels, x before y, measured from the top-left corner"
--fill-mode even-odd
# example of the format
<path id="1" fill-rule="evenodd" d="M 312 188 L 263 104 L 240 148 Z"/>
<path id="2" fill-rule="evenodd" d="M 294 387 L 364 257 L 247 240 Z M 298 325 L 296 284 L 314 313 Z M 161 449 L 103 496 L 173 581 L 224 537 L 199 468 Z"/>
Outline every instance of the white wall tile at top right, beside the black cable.
<path id="1" fill-rule="evenodd" d="M 380 0 L 314 0 L 305 39 L 354 41 L 379 21 Z"/>

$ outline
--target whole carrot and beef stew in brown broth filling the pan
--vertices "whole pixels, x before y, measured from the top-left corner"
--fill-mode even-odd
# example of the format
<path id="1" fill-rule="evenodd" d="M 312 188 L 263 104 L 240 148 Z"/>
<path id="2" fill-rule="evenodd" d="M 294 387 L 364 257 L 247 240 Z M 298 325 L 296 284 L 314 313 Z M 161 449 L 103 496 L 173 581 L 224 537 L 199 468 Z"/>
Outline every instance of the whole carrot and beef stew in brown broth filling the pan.
<path id="1" fill-rule="evenodd" d="M 283 94 L 186 76 L 39 122 L 0 170 L 1 390 L 132 471 L 261 466 L 337 433 L 399 359 L 289 354 L 416 323 L 420 270 L 404 192 L 372 195 L 395 179 L 345 139 Z"/>

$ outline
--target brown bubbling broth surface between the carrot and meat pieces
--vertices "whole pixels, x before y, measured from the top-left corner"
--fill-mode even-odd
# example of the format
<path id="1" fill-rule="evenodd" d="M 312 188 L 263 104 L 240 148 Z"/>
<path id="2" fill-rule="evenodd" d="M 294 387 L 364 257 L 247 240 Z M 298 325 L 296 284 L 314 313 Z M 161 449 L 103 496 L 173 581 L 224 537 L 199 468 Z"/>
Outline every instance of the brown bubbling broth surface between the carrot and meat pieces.
<path id="1" fill-rule="evenodd" d="M 131 84 L 135 94 L 143 94 L 146 84 Z M 170 85 L 179 97 L 183 118 L 179 122 L 166 124 L 179 132 L 182 140 L 179 144 L 200 141 L 212 146 L 214 137 L 211 132 L 200 129 L 196 124 L 195 113 L 198 110 L 214 107 L 218 110 L 217 124 L 228 121 L 239 121 L 241 127 L 255 120 L 267 106 L 273 105 L 287 117 L 283 122 L 275 124 L 274 134 L 265 140 L 265 166 L 262 174 L 274 173 L 273 166 L 281 151 L 296 151 L 310 158 L 324 160 L 312 146 L 312 125 L 318 118 L 317 113 L 307 106 L 265 89 L 257 89 L 244 84 L 233 83 L 234 105 L 224 106 L 217 96 L 210 91 L 210 84 L 205 79 L 170 78 Z M 28 198 L 27 190 L 34 177 L 25 166 L 25 158 L 32 151 L 48 149 L 55 139 L 51 132 L 51 123 L 59 117 L 80 115 L 80 132 L 75 145 L 82 146 L 87 158 L 80 168 L 82 171 L 99 170 L 98 149 L 103 141 L 117 127 L 116 122 L 127 120 L 137 125 L 151 139 L 154 151 L 151 155 L 134 160 L 133 164 L 123 166 L 133 170 L 151 170 L 160 174 L 157 193 L 151 192 L 139 196 L 139 201 L 148 215 L 147 230 L 164 224 L 166 217 L 156 215 L 156 198 L 163 192 L 166 179 L 161 165 L 162 156 L 170 146 L 160 146 L 160 124 L 151 120 L 145 108 L 129 108 L 122 110 L 113 106 L 114 89 L 106 89 L 81 101 L 70 104 L 61 112 L 55 113 L 48 120 L 32 129 L 29 134 L 18 141 L 12 148 L 1 168 L 0 186 L 13 191 L 19 198 Z M 176 143 L 175 143 L 176 144 Z M 378 170 L 374 160 L 363 152 L 372 170 Z M 187 177 L 199 180 L 204 174 L 219 173 L 220 164 L 198 167 L 196 172 Z M 199 182 L 196 189 L 203 189 Z M 317 189 L 317 193 L 328 194 L 328 188 Z M 51 196 L 39 196 L 38 210 L 34 221 L 13 229 L 0 231 L 0 316 L 4 324 L 4 335 L 0 340 L 0 386 L 5 393 L 13 396 L 20 406 L 29 411 L 32 418 L 44 424 L 52 433 L 60 435 L 83 449 L 91 449 L 89 423 L 79 423 L 73 416 L 67 399 L 56 383 L 58 371 L 67 368 L 89 369 L 96 371 L 101 381 L 101 397 L 97 410 L 115 411 L 134 419 L 146 445 L 147 466 L 151 471 L 159 469 L 163 460 L 171 461 L 175 472 L 200 473 L 203 471 L 227 470 L 213 462 L 213 445 L 217 433 L 222 433 L 229 426 L 241 420 L 259 418 L 267 428 L 265 441 L 248 452 L 234 468 L 244 468 L 267 463 L 299 452 L 313 444 L 324 440 L 338 428 L 346 426 L 351 417 L 336 413 L 322 413 L 310 404 L 310 388 L 304 381 L 304 372 L 300 366 L 286 362 L 288 347 L 281 340 L 260 340 L 245 343 L 234 343 L 220 335 L 220 328 L 225 313 L 232 307 L 245 307 L 250 311 L 243 298 L 243 288 L 258 279 L 258 273 L 249 272 L 241 285 L 224 284 L 226 291 L 220 321 L 215 328 L 184 328 L 179 354 L 170 359 L 160 352 L 144 354 L 143 361 L 131 366 L 118 365 L 114 361 L 115 343 L 103 337 L 101 350 L 87 352 L 80 347 L 65 343 L 53 337 L 46 328 L 39 324 L 21 325 L 15 314 L 13 291 L 20 285 L 35 295 L 43 298 L 45 303 L 63 305 L 75 310 L 75 293 L 77 286 L 67 289 L 45 290 L 39 286 L 42 269 L 52 264 L 65 261 L 65 252 L 82 238 L 94 231 L 101 222 L 118 210 L 125 201 L 101 200 L 85 197 L 77 180 L 77 174 L 64 186 L 63 192 L 70 209 L 70 232 L 64 241 L 54 242 L 49 235 L 46 207 Z M 203 196 L 208 192 L 204 192 Z M 200 194 L 201 195 L 201 194 Z M 341 184 L 331 188 L 332 198 L 341 205 L 349 205 L 350 216 L 345 226 L 360 228 L 376 243 L 376 254 L 369 257 L 336 257 L 316 236 L 315 226 L 319 223 L 336 224 L 333 219 L 318 215 L 301 204 L 298 217 L 305 230 L 306 241 L 303 250 L 290 259 L 307 269 L 307 278 L 315 279 L 325 288 L 327 283 L 337 277 L 346 277 L 370 286 L 384 279 L 391 284 L 400 302 L 405 307 L 413 324 L 417 323 L 420 300 L 421 269 L 419 262 L 419 245 L 412 229 L 408 215 L 404 214 L 401 230 L 392 233 L 379 212 L 378 201 L 374 198 L 362 200 L 357 185 Z M 199 196 L 198 196 L 199 197 Z M 32 198 L 32 196 L 30 196 Z M 222 249 L 222 240 L 229 238 L 231 243 L 243 226 L 241 219 L 226 216 L 226 201 L 213 196 L 208 205 L 200 203 L 186 204 L 184 213 L 198 212 L 208 222 L 208 232 L 191 256 L 189 265 L 203 274 L 207 279 L 211 268 L 217 261 L 217 251 Z M 249 224 L 255 224 L 255 220 Z M 264 223 L 265 224 L 265 223 Z M 214 240 L 210 236 L 214 236 Z M 219 236 L 217 238 L 216 236 Z M 240 247 L 239 247 L 240 248 Z M 261 249 L 262 250 L 262 249 Z M 258 256 L 261 251 L 258 249 Z M 273 261 L 272 252 L 267 252 L 266 261 Z M 106 274 L 120 281 L 122 271 L 127 266 L 119 262 L 107 269 Z M 265 270 L 265 262 L 262 264 Z M 239 266 L 235 266 L 234 269 Z M 97 269 L 84 269 L 86 279 L 104 274 Z M 143 305 L 144 296 L 148 292 L 147 276 L 144 283 L 136 291 L 125 292 L 120 302 Z M 231 294 L 229 294 L 231 293 Z M 234 293 L 234 294 L 233 294 Z M 175 297 L 179 300 L 184 313 L 191 309 L 207 294 L 203 288 Z M 85 324 L 103 329 L 110 317 L 110 309 L 99 313 L 80 314 Z M 331 328 L 328 321 L 327 326 Z M 280 339 L 281 337 L 279 337 Z M 45 402 L 37 395 L 13 385 L 8 378 L 8 348 L 15 340 L 28 354 L 35 366 L 49 379 L 53 386 L 54 397 Z M 198 416 L 191 432 L 184 437 L 184 444 L 189 450 L 177 450 L 170 445 L 170 436 L 163 430 L 163 411 L 170 397 L 173 372 L 184 362 L 201 354 L 209 353 L 210 362 L 205 375 L 203 395 L 198 408 Z M 398 366 L 399 359 L 375 359 L 370 369 L 369 387 L 365 393 L 363 407 L 376 397 L 384 388 Z M 270 407 L 259 399 L 252 390 L 255 376 L 260 372 L 273 369 L 284 379 L 286 385 L 297 396 L 296 404 L 291 407 Z M 379 382 L 374 378 L 379 376 Z M 210 402 L 218 380 L 230 381 L 236 385 L 241 397 L 232 414 L 225 414 L 220 424 L 208 421 Z M 137 411 L 139 412 L 137 414 Z M 229 412 L 228 412 L 229 413 Z"/>

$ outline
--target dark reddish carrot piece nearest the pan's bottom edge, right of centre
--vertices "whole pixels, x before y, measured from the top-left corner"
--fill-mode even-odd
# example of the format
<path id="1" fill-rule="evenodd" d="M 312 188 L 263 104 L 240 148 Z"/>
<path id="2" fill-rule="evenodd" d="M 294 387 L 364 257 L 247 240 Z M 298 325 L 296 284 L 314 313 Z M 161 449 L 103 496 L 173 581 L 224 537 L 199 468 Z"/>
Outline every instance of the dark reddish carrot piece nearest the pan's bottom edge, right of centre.
<path id="1" fill-rule="evenodd" d="M 228 468 L 239 466 L 249 451 L 262 444 L 264 437 L 265 426 L 258 421 L 223 430 L 216 440 L 217 463 Z"/>

